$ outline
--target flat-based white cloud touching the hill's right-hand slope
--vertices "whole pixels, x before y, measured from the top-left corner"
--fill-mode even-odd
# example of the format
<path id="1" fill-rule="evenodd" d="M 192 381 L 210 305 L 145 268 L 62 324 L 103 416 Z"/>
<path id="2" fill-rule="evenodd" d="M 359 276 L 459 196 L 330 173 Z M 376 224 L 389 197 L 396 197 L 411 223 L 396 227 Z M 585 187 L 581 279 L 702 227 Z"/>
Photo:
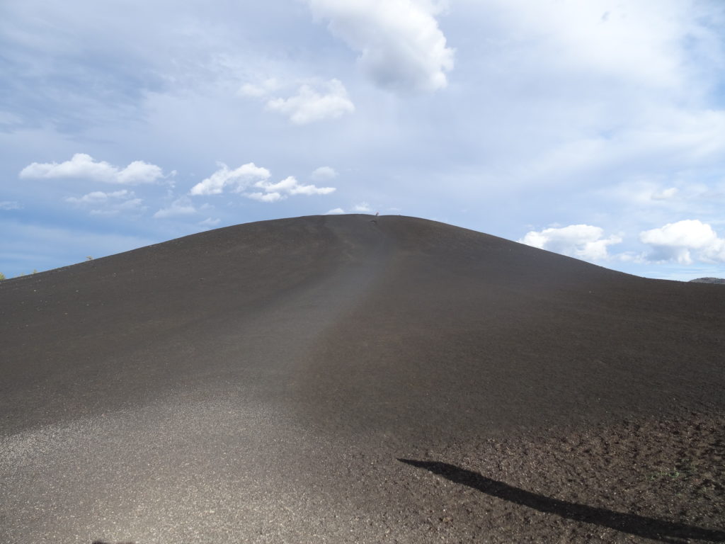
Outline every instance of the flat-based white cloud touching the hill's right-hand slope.
<path id="1" fill-rule="evenodd" d="M 591 225 L 569 225 L 560 228 L 544 228 L 529 231 L 519 240 L 522 244 L 538 247 L 570 257 L 584 260 L 607 260 L 608 246 L 622 241 L 619 236 L 604 238 L 600 227 Z"/>

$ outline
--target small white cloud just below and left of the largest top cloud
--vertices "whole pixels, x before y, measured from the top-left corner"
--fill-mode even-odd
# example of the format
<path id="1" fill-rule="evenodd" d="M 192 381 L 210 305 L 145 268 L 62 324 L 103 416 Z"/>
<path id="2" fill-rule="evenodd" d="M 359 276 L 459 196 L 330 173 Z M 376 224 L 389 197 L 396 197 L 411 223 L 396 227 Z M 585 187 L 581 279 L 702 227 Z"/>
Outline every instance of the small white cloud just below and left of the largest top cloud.
<path id="1" fill-rule="evenodd" d="M 269 100 L 267 107 L 287 115 L 296 125 L 337 119 L 345 113 L 355 111 L 355 104 L 347 96 L 347 90 L 341 81 L 331 79 L 320 86 L 321 91 L 312 83 L 306 83 L 299 87 L 294 96 Z"/>

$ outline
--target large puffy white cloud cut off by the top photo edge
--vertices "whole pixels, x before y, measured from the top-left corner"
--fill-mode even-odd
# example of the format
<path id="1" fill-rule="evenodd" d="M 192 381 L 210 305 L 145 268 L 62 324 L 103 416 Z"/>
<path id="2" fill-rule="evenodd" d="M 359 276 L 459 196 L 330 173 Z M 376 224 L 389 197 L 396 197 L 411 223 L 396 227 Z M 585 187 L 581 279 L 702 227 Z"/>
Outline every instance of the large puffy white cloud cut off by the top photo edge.
<path id="1" fill-rule="evenodd" d="M 312 14 L 328 21 L 334 36 L 358 51 L 358 62 L 379 86 L 396 91 L 436 91 L 447 86 L 455 51 L 430 0 L 308 0 Z"/>

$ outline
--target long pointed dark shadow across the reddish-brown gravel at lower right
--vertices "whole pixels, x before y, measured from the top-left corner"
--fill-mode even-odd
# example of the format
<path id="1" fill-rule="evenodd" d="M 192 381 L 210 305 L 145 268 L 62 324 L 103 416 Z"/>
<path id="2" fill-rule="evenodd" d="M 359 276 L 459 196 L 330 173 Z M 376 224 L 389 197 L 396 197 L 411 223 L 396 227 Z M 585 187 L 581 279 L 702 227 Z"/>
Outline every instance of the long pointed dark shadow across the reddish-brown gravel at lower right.
<path id="1" fill-rule="evenodd" d="M 492 495 L 511 503 L 529 506 L 539 512 L 557 514 L 575 522 L 591 523 L 601 527 L 609 527 L 630 535 L 659 540 L 660 542 L 682 542 L 678 539 L 711 540 L 725 542 L 725 532 L 714 529 L 701 529 L 681 523 L 664 522 L 635 514 L 621 514 L 605 508 L 595 508 L 584 504 L 570 503 L 567 500 L 545 497 L 513 487 L 513 485 L 486 478 L 478 472 L 461 469 L 458 466 L 439 461 L 413 461 L 412 459 L 398 459 L 402 463 L 426 469 L 433 474 L 439 474 L 451 482 L 468 485 L 475 490 Z"/>

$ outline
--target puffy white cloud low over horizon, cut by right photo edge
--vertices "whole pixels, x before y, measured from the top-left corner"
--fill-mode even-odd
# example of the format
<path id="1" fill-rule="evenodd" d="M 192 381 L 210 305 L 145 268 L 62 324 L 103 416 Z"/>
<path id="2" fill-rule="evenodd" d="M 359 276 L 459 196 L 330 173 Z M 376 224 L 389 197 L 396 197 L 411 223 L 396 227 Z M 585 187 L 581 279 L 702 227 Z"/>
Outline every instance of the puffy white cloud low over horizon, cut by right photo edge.
<path id="1" fill-rule="evenodd" d="M 708 223 L 697 219 L 685 219 L 642 231 L 639 240 L 652 247 L 652 251 L 645 255 L 646 260 L 674 260 L 683 265 L 692 264 L 694 259 L 709 263 L 725 262 L 725 239 L 718 237 Z"/>

